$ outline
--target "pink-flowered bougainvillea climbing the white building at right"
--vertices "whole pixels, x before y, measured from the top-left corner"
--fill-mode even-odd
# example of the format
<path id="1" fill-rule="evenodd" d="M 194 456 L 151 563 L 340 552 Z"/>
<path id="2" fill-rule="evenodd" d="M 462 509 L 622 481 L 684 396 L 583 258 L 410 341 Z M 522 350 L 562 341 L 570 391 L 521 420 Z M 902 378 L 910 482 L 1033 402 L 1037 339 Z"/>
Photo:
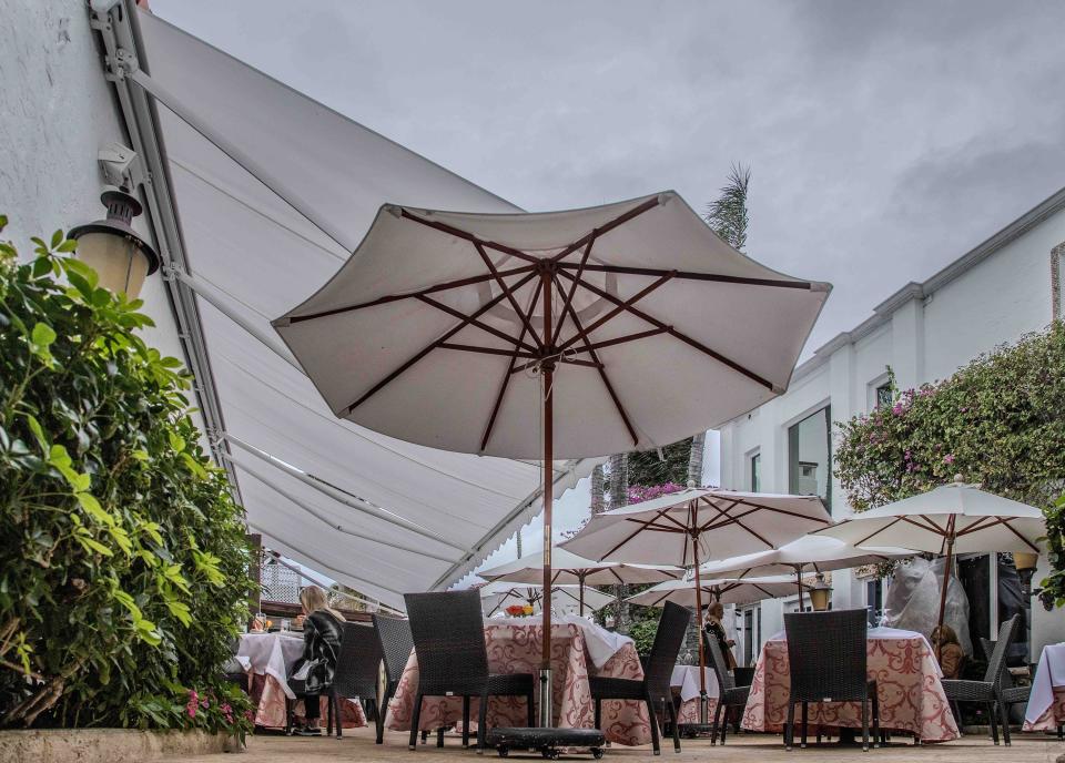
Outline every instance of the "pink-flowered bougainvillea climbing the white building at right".
<path id="1" fill-rule="evenodd" d="M 1065 325 L 982 355 L 951 378 L 895 390 L 840 425 L 835 474 L 855 511 L 961 475 L 1044 510 L 1047 601 L 1065 604 Z"/>

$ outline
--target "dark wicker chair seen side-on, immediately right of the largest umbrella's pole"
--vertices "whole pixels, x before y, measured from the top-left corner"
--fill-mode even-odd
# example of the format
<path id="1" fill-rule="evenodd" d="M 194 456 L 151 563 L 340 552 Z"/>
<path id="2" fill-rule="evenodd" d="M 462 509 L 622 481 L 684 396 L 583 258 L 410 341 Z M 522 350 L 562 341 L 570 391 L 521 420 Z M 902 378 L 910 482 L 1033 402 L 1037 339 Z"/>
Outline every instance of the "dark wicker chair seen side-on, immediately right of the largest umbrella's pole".
<path id="1" fill-rule="evenodd" d="M 655 749 L 655 754 L 659 755 L 661 754 L 661 743 L 655 704 L 665 703 L 673 730 L 673 750 L 680 752 L 680 732 L 677 728 L 677 711 L 673 708 L 669 680 L 672 676 L 677 654 L 680 652 L 680 644 L 684 640 L 690 619 L 691 612 L 687 608 L 671 601 L 666 602 L 662 617 L 658 621 L 658 631 L 655 633 L 651 653 L 643 664 L 642 679 L 611 679 L 596 675 L 588 678 L 591 699 L 596 703 L 596 729 L 602 728 L 604 700 L 638 700 L 645 702 L 651 721 L 651 745 Z"/>

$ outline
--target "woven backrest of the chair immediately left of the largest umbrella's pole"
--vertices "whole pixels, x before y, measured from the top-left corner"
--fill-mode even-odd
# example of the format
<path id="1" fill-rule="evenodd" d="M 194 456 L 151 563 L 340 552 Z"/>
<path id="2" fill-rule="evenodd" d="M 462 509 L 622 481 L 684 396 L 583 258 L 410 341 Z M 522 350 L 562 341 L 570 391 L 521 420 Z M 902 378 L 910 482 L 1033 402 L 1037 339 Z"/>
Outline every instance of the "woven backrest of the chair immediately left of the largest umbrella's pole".
<path id="1" fill-rule="evenodd" d="M 476 590 L 406 593 L 418 659 L 418 691 L 479 694 L 488 681 L 488 650 Z"/>

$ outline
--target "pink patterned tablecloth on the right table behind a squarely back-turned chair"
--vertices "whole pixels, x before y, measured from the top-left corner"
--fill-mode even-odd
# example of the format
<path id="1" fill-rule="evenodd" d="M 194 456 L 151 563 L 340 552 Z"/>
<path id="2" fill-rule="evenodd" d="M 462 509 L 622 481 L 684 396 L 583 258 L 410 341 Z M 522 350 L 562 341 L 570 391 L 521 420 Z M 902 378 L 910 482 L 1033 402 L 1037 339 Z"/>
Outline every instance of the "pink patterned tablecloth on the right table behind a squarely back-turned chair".
<path id="1" fill-rule="evenodd" d="M 881 728 L 916 734 L 922 742 L 957 739 L 957 724 L 927 640 L 920 633 L 873 629 L 868 643 L 869 678 L 876 679 Z M 762 647 L 742 726 L 751 731 L 782 731 L 788 719 L 790 685 L 788 642 L 780 634 Z M 810 704 L 811 733 L 818 725 L 860 729 L 861 719 L 858 702 Z"/>

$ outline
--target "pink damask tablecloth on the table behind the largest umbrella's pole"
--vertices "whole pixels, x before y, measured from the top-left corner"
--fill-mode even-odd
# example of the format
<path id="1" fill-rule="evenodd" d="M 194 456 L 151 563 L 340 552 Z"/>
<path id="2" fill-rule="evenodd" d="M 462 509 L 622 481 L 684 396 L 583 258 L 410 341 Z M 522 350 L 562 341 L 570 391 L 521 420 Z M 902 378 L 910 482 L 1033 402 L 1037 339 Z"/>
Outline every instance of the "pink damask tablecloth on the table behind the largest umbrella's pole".
<path id="1" fill-rule="evenodd" d="M 539 672 L 544 629 L 539 623 L 486 623 L 485 644 L 488 669 L 494 673 Z M 571 623 L 551 625 L 551 708 L 555 724 L 569 729 L 590 729 L 595 708 L 588 689 L 588 675 L 640 679 L 643 669 L 631 643 L 623 644 L 598 671 L 591 663 L 581 629 Z M 418 662 L 412 653 L 399 679 L 396 694 L 388 703 L 385 725 L 409 731 L 414 699 L 418 690 Z M 470 719 L 476 720 L 479 701 L 470 702 Z M 463 700 L 458 696 L 425 698 L 418 725 L 422 731 L 446 728 L 463 720 Z M 489 726 L 524 726 L 528 723 L 526 700 L 493 696 L 488 700 Z M 649 744 L 651 728 L 647 708 L 635 701 L 602 703 L 602 728 L 615 744 Z"/>

